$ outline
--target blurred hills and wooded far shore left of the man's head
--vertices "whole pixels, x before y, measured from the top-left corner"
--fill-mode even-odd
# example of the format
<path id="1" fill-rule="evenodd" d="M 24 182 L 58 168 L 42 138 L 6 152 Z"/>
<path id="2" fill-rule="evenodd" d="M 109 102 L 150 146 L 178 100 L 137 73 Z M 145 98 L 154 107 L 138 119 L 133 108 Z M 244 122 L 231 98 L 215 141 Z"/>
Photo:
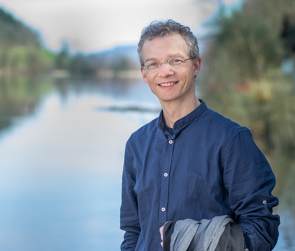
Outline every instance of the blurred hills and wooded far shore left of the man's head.
<path id="1" fill-rule="evenodd" d="M 66 47 L 58 53 L 50 51 L 40 41 L 40 34 L 34 28 L 0 6 L 0 75 L 62 70 L 64 76 L 113 78 L 121 76 L 123 71 L 128 71 L 124 73 L 128 76 L 135 69 L 139 72 L 137 45 L 120 45 L 91 54 L 71 54 Z"/>

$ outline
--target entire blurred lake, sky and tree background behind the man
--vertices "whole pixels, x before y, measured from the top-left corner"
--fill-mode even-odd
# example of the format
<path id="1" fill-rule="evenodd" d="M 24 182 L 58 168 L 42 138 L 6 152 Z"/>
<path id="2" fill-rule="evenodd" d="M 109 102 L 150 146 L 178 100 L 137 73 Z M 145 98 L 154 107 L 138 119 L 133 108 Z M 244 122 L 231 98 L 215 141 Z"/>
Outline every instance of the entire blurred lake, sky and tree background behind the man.
<path id="1" fill-rule="evenodd" d="M 295 250 L 294 0 L 0 0 L 0 250 L 119 250 L 125 143 L 161 109 L 137 42 L 170 18 L 199 39 L 197 96 L 270 162 L 274 250 Z"/>

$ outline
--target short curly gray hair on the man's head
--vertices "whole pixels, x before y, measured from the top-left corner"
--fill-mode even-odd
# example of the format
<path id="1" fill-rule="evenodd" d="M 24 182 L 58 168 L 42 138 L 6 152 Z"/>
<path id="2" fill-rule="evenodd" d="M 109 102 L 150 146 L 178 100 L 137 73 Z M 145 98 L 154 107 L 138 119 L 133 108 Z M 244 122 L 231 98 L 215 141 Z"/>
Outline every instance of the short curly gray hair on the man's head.
<path id="1" fill-rule="evenodd" d="M 166 21 L 156 20 L 142 29 L 137 48 L 140 65 L 144 66 L 144 61 L 142 58 L 142 46 L 146 40 L 152 40 L 154 38 L 160 38 L 166 35 L 174 34 L 179 34 L 184 38 L 188 46 L 188 54 L 190 58 L 199 57 L 198 41 L 189 27 L 181 25 L 172 19 Z"/>

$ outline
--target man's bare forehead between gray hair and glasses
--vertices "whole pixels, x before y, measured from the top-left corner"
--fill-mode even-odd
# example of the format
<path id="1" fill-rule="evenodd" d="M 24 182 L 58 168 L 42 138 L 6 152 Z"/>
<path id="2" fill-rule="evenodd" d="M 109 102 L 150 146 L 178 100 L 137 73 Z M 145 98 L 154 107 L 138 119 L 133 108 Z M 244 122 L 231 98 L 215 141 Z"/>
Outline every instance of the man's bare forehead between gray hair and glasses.
<path id="1" fill-rule="evenodd" d="M 188 55 L 186 41 L 179 34 L 146 40 L 142 46 L 144 61 L 150 59 L 167 60 L 173 56 L 187 57 Z"/>

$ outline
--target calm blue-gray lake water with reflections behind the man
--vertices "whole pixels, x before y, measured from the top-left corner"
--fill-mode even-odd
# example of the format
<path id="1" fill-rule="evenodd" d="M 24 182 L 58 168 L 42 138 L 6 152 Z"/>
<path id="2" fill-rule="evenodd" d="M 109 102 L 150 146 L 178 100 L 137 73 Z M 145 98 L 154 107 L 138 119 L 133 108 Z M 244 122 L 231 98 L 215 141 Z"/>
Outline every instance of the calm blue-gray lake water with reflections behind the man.
<path id="1" fill-rule="evenodd" d="M 160 110 L 147 84 L 2 81 L 0 99 L 0 250 L 119 250 L 124 146 Z M 275 250 L 295 250 L 294 182 L 278 176 Z"/>

